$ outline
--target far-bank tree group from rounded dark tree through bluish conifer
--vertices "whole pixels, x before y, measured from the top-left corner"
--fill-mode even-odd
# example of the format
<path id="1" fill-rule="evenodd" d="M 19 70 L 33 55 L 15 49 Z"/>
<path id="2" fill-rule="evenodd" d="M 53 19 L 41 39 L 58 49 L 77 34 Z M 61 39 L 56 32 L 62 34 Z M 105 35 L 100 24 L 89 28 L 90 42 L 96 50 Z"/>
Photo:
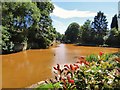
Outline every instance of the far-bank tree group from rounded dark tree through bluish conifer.
<path id="1" fill-rule="evenodd" d="M 67 43 L 79 41 L 82 44 L 103 45 L 108 36 L 107 26 L 106 16 L 99 11 L 93 22 L 86 20 L 82 26 L 76 23 L 70 24 L 65 32 L 65 40 Z"/>

